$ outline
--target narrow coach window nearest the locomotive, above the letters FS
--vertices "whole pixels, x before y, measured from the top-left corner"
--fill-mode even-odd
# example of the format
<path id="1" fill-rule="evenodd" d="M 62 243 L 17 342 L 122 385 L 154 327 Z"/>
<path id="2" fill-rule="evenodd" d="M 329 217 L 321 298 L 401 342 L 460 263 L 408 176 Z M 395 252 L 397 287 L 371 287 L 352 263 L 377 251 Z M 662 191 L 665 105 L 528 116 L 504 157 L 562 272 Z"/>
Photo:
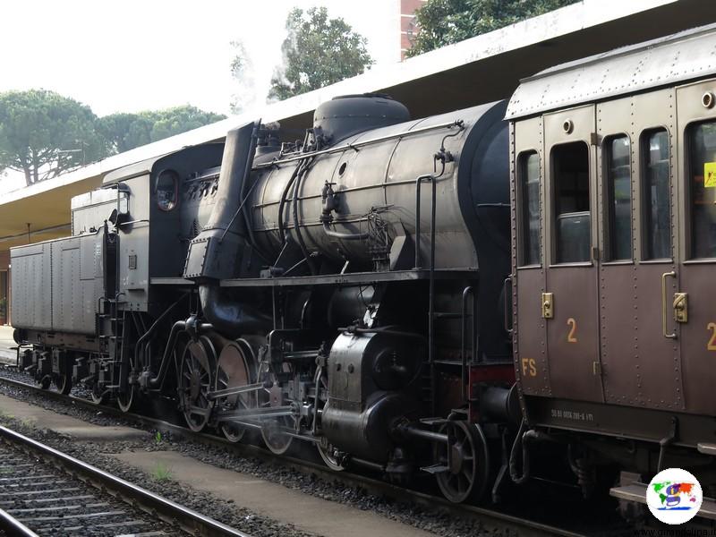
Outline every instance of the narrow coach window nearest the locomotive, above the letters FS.
<path id="1" fill-rule="evenodd" d="M 540 264 L 540 157 L 523 153 L 518 160 L 519 209 L 522 219 L 521 265 Z"/>

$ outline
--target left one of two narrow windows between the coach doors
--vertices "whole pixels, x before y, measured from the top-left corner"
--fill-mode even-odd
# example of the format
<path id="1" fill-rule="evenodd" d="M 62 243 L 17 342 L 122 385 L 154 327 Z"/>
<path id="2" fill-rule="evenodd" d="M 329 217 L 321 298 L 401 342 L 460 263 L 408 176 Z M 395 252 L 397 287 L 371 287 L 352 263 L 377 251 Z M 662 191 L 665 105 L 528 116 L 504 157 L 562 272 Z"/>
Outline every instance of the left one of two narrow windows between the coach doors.
<path id="1" fill-rule="evenodd" d="M 614 136 L 604 143 L 608 196 L 609 260 L 632 259 L 631 151 L 628 136 Z"/>

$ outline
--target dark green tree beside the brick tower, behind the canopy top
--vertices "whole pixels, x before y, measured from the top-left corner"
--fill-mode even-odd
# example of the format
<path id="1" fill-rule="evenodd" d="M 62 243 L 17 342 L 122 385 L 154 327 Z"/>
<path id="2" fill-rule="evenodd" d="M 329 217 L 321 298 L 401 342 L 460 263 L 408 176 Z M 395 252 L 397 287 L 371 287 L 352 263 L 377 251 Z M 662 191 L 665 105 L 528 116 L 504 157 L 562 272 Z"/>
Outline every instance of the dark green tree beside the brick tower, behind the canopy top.
<path id="1" fill-rule="evenodd" d="M 578 0 L 428 0 L 415 12 L 414 56 L 467 38 L 499 30 Z"/>

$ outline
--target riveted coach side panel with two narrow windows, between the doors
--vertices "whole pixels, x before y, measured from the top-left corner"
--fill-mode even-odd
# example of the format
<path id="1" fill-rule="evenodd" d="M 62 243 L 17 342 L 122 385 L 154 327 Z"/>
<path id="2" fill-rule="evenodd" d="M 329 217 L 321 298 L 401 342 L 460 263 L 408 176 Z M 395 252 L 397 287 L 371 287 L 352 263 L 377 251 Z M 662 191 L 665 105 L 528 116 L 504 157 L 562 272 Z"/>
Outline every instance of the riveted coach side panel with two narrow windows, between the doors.
<path id="1" fill-rule="evenodd" d="M 673 91 L 661 90 L 597 106 L 600 347 L 604 398 L 616 405 L 683 407 L 673 318 L 673 105 Z"/>

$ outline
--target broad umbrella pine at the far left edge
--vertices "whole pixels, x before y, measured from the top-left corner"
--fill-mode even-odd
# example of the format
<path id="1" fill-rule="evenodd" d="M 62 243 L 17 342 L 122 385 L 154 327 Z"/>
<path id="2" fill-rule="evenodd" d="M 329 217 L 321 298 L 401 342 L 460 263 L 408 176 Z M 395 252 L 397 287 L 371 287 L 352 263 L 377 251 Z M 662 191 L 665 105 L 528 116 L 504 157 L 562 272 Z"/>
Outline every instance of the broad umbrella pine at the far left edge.
<path id="1" fill-rule="evenodd" d="M 0 171 L 22 172 L 30 185 L 101 157 L 96 120 L 54 91 L 0 93 Z"/>

